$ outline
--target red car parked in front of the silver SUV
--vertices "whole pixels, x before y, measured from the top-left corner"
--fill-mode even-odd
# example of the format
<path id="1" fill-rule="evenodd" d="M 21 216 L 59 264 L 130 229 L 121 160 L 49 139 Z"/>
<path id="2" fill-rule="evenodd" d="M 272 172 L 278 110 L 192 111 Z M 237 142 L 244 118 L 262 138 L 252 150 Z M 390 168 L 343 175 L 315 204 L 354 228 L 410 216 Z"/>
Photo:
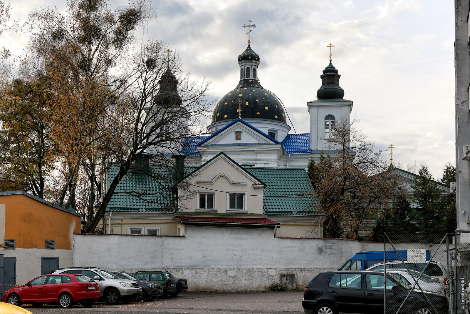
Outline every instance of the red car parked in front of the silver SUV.
<path id="1" fill-rule="evenodd" d="M 87 275 L 42 275 L 24 286 L 8 289 L 3 302 L 20 306 L 22 303 L 39 307 L 44 303 L 58 303 L 63 308 L 79 303 L 90 307 L 100 298 L 98 283 Z"/>

